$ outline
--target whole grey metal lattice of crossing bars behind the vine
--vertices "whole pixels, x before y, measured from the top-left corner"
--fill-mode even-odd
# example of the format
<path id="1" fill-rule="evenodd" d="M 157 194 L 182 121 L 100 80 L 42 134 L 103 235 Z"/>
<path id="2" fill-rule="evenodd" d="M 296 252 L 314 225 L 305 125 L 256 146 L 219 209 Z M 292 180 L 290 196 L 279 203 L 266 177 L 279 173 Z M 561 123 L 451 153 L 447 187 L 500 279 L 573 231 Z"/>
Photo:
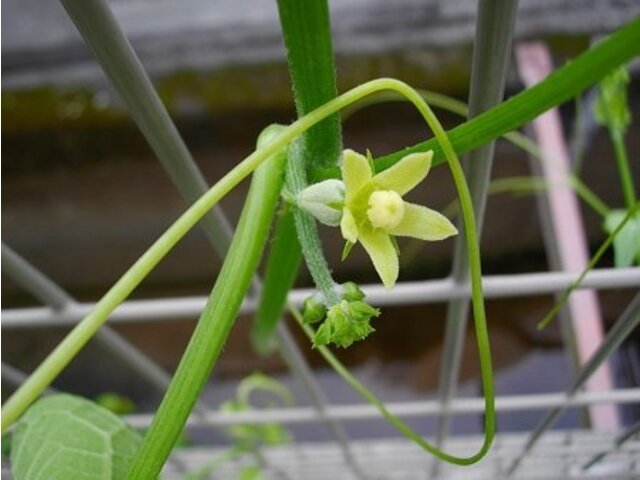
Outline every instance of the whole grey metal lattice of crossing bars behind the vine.
<path id="1" fill-rule="evenodd" d="M 178 136 L 175 126 L 160 103 L 157 94 L 153 91 L 151 82 L 140 66 L 133 49 L 129 45 L 115 18 L 111 15 L 109 7 L 103 0 L 86 2 L 62 0 L 62 3 L 84 35 L 85 41 L 94 48 L 94 53 L 101 66 L 125 100 L 127 106 L 131 109 L 134 119 L 153 146 L 181 194 L 188 200 L 197 198 L 207 188 L 202 174 L 199 172 L 184 143 Z M 490 2 L 487 2 L 487 4 L 489 3 Z M 510 29 L 512 29 L 512 22 L 515 19 L 516 2 L 505 0 L 505 5 L 506 4 L 510 5 L 512 9 L 510 11 L 513 15 L 510 17 L 511 24 L 510 26 L 508 25 L 509 28 L 503 32 L 506 34 L 507 40 L 503 39 L 501 40 L 502 42 L 510 42 Z M 108 48 L 100 44 L 99 38 L 95 37 L 96 30 L 90 28 L 91 22 L 93 21 L 92 18 L 96 15 L 105 17 L 108 20 L 108 22 L 103 22 L 101 27 L 104 29 L 102 33 L 107 34 L 113 41 Z M 485 20 L 490 19 L 487 19 L 485 16 Z M 505 46 L 506 44 L 503 45 L 503 47 Z M 111 57 L 110 59 L 109 55 L 105 54 L 105 49 L 120 49 L 122 52 L 120 57 L 121 63 L 111 64 L 110 61 L 112 61 L 113 58 Z M 504 51 L 507 52 L 508 48 L 504 48 Z M 495 74 L 492 78 L 498 84 L 503 84 L 504 76 L 506 75 L 506 56 L 503 56 L 503 58 L 499 60 L 498 63 L 492 66 L 493 74 Z M 131 95 L 131 92 L 128 90 L 131 82 L 137 82 L 137 84 L 141 86 L 142 90 L 146 92 L 146 100 L 141 100 L 135 95 Z M 501 90 L 502 88 L 498 88 L 493 92 L 479 92 L 474 94 L 472 96 L 476 99 L 472 102 L 472 104 L 475 105 L 474 110 L 479 112 L 482 110 L 483 105 L 486 106 L 487 104 L 497 102 L 502 95 Z M 147 107 L 148 109 L 145 110 Z M 143 110 L 144 114 L 141 113 Z M 158 143 L 160 137 L 163 138 L 165 143 Z M 473 188 L 475 192 L 474 198 L 478 205 L 479 217 L 482 217 L 483 205 L 486 199 L 486 181 L 491 164 L 491 148 L 485 149 L 484 153 L 480 156 L 484 158 L 484 161 L 478 161 L 474 163 L 474 165 L 484 163 L 484 166 L 479 169 L 474 167 L 474 171 L 467 173 L 470 176 L 470 183 L 472 186 L 475 185 Z M 216 210 L 214 214 L 208 217 L 205 223 L 205 229 L 216 251 L 221 255 L 224 254 L 230 239 L 231 229 L 221 209 Z M 61 287 L 55 284 L 55 282 L 47 278 L 5 245 L 2 246 L 2 261 L 5 273 L 12 276 L 20 285 L 45 304 L 44 307 L 38 308 L 3 310 L 3 329 L 69 326 L 78 321 L 92 308 L 91 304 L 76 302 Z M 456 248 L 454 265 L 456 265 L 456 267 L 454 268 L 454 273 L 451 278 L 403 283 L 398 285 L 393 293 L 386 292 L 378 285 L 368 285 L 364 287 L 371 302 L 377 305 L 449 302 L 451 314 L 448 317 L 450 319 L 451 333 L 447 336 L 449 340 L 446 342 L 445 358 L 451 359 L 451 362 L 445 362 L 447 365 L 443 369 L 442 380 L 446 388 L 442 390 L 440 398 L 436 400 L 392 403 L 388 405 L 389 410 L 399 416 L 438 416 L 438 418 L 441 419 L 441 423 L 437 432 L 437 441 L 447 447 L 456 444 L 467 445 L 469 442 L 475 442 L 477 440 L 475 438 L 449 438 L 448 418 L 452 415 L 482 413 L 483 411 L 483 401 L 480 398 L 455 398 L 455 384 L 457 379 L 456 358 L 459 358 L 461 351 L 462 337 L 460 331 L 464 330 L 464 318 L 466 318 L 466 308 L 464 305 L 467 304 L 469 298 L 469 289 L 465 282 L 465 276 L 462 273 L 466 270 L 463 268 L 465 262 L 464 249 L 462 247 Z M 487 298 L 524 297 L 541 293 L 560 292 L 572 284 L 575 276 L 575 273 L 562 271 L 486 276 L 484 278 L 485 296 Z M 587 275 L 580 288 L 637 289 L 639 286 L 640 268 L 628 268 L 592 271 Z M 245 300 L 242 306 L 242 312 L 250 312 L 255 309 L 256 294 L 259 290 L 260 280 L 255 279 L 253 292 Z M 308 290 L 295 290 L 291 293 L 290 300 L 299 305 L 302 299 L 309 295 L 309 293 L 310 291 Z M 205 300 L 204 297 L 190 297 L 128 301 L 114 312 L 110 321 L 150 322 L 162 321 L 169 318 L 190 319 L 199 315 Z M 575 473 L 578 471 L 586 474 L 585 472 L 594 471 L 596 465 L 606 464 L 608 458 L 614 458 L 616 462 L 626 462 L 625 468 L 627 468 L 626 472 L 629 473 L 629 476 L 640 474 L 640 466 L 637 461 L 635 461 L 633 453 L 630 453 L 640 452 L 640 441 L 635 439 L 640 431 L 640 424 L 632 425 L 617 434 L 588 431 L 572 432 L 563 436 L 563 434 L 558 432 L 549 432 L 555 419 L 566 408 L 603 403 L 613 405 L 640 403 L 640 388 L 624 390 L 611 389 L 604 392 L 581 391 L 582 386 L 589 380 L 597 368 L 606 362 L 638 323 L 640 323 L 640 295 L 636 296 L 631 302 L 602 344 L 593 349 L 589 358 L 585 359 L 586 363 L 577 371 L 573 384 L 569 386 L 566 392 L 498 397 L 496 402 L 498 412 L 547 410 L 547 414 L 538 428 L 529 434 L 499 435 L 496 448 L 491 453 L 488 461 L 479 464 L 477 467 L 472 467 L 472 470 L 473 468 L 477 468 L 478 478 L 480 478 L 480 474 L 483 472 L 486 473 L 486 478 L 495 478 L 497 475 L 513 476 L 516 472 L 518 478 L 527 477 L 527 475 L 532 473 L 544 477 L 542 471 L 535 470 L 537 467 L 532 467 L 531 469 L 526 468 L 530 464 L 538 465 L 536 463 L 540 461 L 540 458 L 538 458 L 539 455 L 536 453 L 538 451 L 543 451 L 543 455 L 546 455 L 544 458 L 547 460 L 552 458 L 553 462 L 559 462 L 558 465 L 561 465 L 562 468 L 566 470 L 565 476 L 567 478 L 573 475 L 571 472 Z M 136 368 L 150 383 L 161 389 L 166 388 L 169 381 L 168 374 L 162 371 L 162 369 L 146 355 L 137 350 L 135 346 L 108 328 L 101 330 L 99 338 L 105 342 L 114 353 L 126 358 L 128 363 Z M 305 445 L 296 444 L 280 450 L 281 452 L 288 452 L 289 456 L 291 456 L 292 453 L 298 455 L 299 458 L 296 457 L 297 460 L 295 460 L 294 463 L 297 463 L 295 465 L 291 460 L 287 461 L 286 456 L 283 459 L 278 451 L 267 451 L 265 456 L 265 458 L 267 458 L 267 460 L 265 460 L 267 468 L 273 467 L 274 469 L 278 469 L 278 471 L 286 471 L 287 475 L 291 475 L 294 478 L 302 478 L 296 475 L 296 472 L 299 473 L 302 471 L 308 473 L 308 475 L 305 474 L 306 476 L 304 476 L 304 478 L 313 478 L 313 472 L 317 473 L 318 478 L 327 478 L 329 475 L 327 472 L 330 471 L 333 472 L 332 475 L 341 476 L 345 473 L 345 469 L 349 472 L 347 474 L 348 476 L 368 478 L 374 473 L 381 473 L 381 470 L 375 469 L 375 465 L 376 462 L 385 457 L 386 454 L 391 455 L 389 461 L 398 462 L 404 454 L 403 452 L 411 452 L 411 455 L 416 453 L 414 452 L 415 447 L 410 446 L 405 441 L 349 441 L 341 422 L 378 418 L 378 411 L 368 404 L 331 405 L 325 398 L 322 389 L 314 378 L 312 370 L 304 361 L 299 347 L 293 341 L 290 332 L 284 324 L 282 324 L 278 330 L 278 339 L 280 353 L 292 374 L 304 386 L 311 400 L 312 407 L 266 412 L 251 411 L 241 414 L 222 414 L 214 411 L 208 405 L 200 405 L 189 420 L 189 425 L 224 426 L 271 421 L 291 424 L 301 422 L 319 422 L 323 424 L 334 439 L 333 445 L 315 445 L 311 450 L 312 453 L 305 453 L 305 449 L 308 449 Z M 16 385 L 24 381 L 26 374 L 11 365 L 3 363 L 2 375 L 5 380 Z M 151 421 L 151 416 L 130 416 L 129 421 L 135 426 L 146 426 Z M 564 443 L 558 443 L 555 441 L 556 438 L 564 438 L 565 440 L 570 438 L 571 442 L 565 441 Z M 507 445 L 507 439 L 516 439 L 518 448 L 510 448 L 507 453 L 504 453 L 507 451 L 505 447 L 505 445 Z M 578 448 L 581 448 L 579 445 L 581 439 L 589 445 L 594 445 L 594 447 L 586 449 L 580 453 L 580 455 L 576 455 L 574 447 L 578 445 Z M 544 451 L 542 448 L 544 445 L 553 445 L 553 454 L 550 454 L 548 450 Z M 534 446 L 537 448 L 534 448 Z M 313 468 L 315 468 L 313 459 L 318 457 L 318 455 L 324 451 L 323 449 L 332 455 L 331 458 L 333 458 L 337 469 L 332 470 L 326 466 L 321 466 L 313 470 Z M 566 453 L 564 456 L 562 455 L 563 452 Z M 622 452 L 622 455 L 620 455 L 619 452 Z M 197 450 L 194 450 L 194 456 L 191 455 L 190 452 L 178 452 L 176 458 L 178 458 L 179 461 L 169 465 L 167 471 L 173 475 L 176 473 L 174 469 L 180 470 L 184 468 L 184 465 L 187 463 L 197 463 L 197 453 Z M 456 475 L 455 471 L 447 466 L 444 466 L 442 469 L 432 468 L 438 465 L 432 457 L 422 452 L 417 452 L 417 454 L 421 456 L 414 459 L 417 462 L 415 465 L 420 465 L 420 467 L 418 467 L 418 471 L 413 472 L 415 475 L 411 478 L 428 478 L 429 476 L 438 475 L 453 478 Z M 308 468 L 301 467 L 300 462 L 307 462 Z M 407 467 L 411 465 L 414 464 L 408 462 L 404 466 Z M 401 466 L 403 465 L 398 465 L 398 467 Z M 305 468 L 307 469 L 305 470 Z M 469 472 L 470 470 L 466 469 L 464 471 Z M 552 476 L 549 478 L 557 475 L 558 470 L 551 471 L 551 474 Z M 388 478 L 392 477 L 389 476 Z"/>

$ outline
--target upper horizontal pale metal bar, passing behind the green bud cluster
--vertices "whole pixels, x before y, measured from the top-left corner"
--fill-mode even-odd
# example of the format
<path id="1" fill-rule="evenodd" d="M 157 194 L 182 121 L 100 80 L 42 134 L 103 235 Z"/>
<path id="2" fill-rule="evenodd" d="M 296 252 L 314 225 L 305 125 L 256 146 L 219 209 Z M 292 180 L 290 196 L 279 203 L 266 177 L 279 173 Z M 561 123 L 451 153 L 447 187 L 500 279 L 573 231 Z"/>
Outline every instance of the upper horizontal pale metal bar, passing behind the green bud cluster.
<path id="1" fill-rule="evenodd" d="M 568 288 L 577 274 L 570 272 L 540 272 L 519 275 L 488 275 L 483 277 L 485 298 L 530 297 L 560 292 Z M 589 272 L 579 288 L 600 290 L 640 287 L 640 268 L 604 268 Z M 393 292 L 380 285 L 363 285 L 367 299 L 377 306 L 401 306 L 438 303 L 452 299 L 469 298 L 469 288 L 451 279 L 424 280 L 397 284 Z M 301 306 L 305 298 L 314 293 L 310 289 L 295 289 L 289 302 Z M 109 317 L 111 323 L 159 322 L 193 319 L 202 312 L 206 297 L 182 297 L 156 300 L 129 300 Z M 82 303 L 56 311 L 51 308 L 5 309 L 2 328 L 32 328 L 35 326 L 69 326 L 76 323 L 93 308 L 93 303 Z M 256 302 L 246 299 L 240 313 L 252 313 Z"/>

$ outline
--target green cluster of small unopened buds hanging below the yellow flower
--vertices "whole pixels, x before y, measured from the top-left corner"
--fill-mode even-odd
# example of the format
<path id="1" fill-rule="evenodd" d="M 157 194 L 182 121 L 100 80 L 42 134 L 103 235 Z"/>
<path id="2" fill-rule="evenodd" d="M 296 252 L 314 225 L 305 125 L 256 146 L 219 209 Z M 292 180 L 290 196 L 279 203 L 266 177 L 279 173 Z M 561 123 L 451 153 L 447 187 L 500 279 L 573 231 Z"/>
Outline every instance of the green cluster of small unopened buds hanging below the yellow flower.
<path id="1" fill-rule="evenodd" d="M 303 305 L 302 317 L 305 323 L 314 324 L 324 320 L 316 330 L 313 346 L 334 343 L 346 348 L 353 342 L 367 337 L 374 328 L 369 324 L 380 310 L 364 300 L 364 293 L 353 282 L 341 285 L 342 300 L 331 307 L 317 296 L 309 297 Z"/>

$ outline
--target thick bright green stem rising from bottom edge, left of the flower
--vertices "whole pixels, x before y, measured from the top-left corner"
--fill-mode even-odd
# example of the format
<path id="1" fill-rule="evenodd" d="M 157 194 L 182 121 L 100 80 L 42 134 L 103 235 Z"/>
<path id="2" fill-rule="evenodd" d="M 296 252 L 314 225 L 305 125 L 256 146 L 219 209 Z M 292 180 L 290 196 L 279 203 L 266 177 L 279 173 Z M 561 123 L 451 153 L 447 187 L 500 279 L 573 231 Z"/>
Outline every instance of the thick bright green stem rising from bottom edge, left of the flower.
<path id="1" fill-rule="evenodd" d="M 254 173 L 224 265 L 128 479 L 156 478 L 184 429 L 260 262 L 284 181 L 285 159 L 284 153 L 278 153 Z"/>

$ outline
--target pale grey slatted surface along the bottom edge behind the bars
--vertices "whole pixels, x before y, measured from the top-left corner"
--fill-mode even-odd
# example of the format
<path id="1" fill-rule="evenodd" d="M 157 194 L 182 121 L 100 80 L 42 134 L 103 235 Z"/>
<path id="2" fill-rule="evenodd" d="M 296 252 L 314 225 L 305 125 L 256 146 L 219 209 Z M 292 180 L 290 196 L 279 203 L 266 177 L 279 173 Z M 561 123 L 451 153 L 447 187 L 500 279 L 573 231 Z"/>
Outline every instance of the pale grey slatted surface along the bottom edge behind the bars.
<path id="1" fill-rule="evenodd" d="M 410 442 L 404 440 L 355 441 L 352 443 L 355 459 L 363 468 L 366 478 L 419 480 L 428 478 L 496 479 L 505 477 L 505 466 L 518 455 L 526 436 L 504 434 L 498 436 L 491 455 L 480 465 L 471 468 L 445 466 L 438 477 L 430 476 L 434 460 Z M 515 478 L 522 479 L 634 479 L 640 475 L 637 458 L 640 440 L 626 442 L 591 468 L 583 466 L 589 459 L 610 448 L 611 434 L 590 431 L 553 432 L 545 436 L 538 450 L 527 457 L 526 465 Z M 470 451 L 481 438 L 452 438 L 447 448 Z M 206 465 L 220 453 L 216 449 L 196 449 L 177 453 L 189 465 Z M 296 444 L 292 447 L 265 451 L 266 472 L 270 478 L 352 479 L 339 449 L 328 444 Z M 242 460 L 222 466 L 212 478 L 237 478 Z M 167 478 L 181 478 L 179 472 L 168 468 Z"/>

